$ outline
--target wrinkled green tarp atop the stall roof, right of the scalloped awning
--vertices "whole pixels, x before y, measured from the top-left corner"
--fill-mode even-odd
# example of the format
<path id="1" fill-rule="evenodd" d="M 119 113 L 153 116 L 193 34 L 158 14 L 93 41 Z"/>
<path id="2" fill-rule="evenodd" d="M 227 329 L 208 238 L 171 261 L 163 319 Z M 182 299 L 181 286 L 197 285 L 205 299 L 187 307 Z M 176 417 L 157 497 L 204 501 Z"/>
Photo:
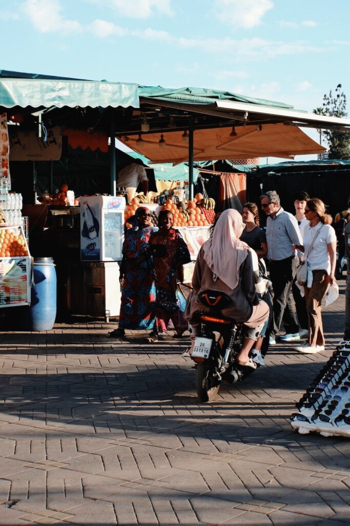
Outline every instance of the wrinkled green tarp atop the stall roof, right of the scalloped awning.
<path id="1" fill-rule="evenodd" d="M 214 104 L 216 100 L 235 100 L 258 104 L 259 106 L 273 106 L 275 108 L 292 109 L 293 106 L 275 102 L 274 100 L 243 97 L 232 92 L 222 92 L 218 89 L 206 88 L 162 88 L 161 86 L 139 86 L 140 97 L 158 98 L 164 100 L 178 100 L 188 104 Z"/>

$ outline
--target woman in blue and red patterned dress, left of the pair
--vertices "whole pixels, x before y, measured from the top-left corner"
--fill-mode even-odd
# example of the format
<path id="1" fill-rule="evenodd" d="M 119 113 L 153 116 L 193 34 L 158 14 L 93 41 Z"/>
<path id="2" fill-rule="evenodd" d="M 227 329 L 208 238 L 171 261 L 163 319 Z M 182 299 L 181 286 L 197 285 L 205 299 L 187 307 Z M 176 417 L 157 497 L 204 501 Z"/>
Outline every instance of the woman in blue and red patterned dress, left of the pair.
<path id="1" fill-rule="evenodd" d="M 120 267 L 122 287 L 119 327 L 112 338 L 125 336 L 125 329 L 149 330 L 155 322 L 156 290 L 151 256 L 147 253 L 152 232 L 150 210 L 137 208 L 133 226 L 125 234 Z"/>

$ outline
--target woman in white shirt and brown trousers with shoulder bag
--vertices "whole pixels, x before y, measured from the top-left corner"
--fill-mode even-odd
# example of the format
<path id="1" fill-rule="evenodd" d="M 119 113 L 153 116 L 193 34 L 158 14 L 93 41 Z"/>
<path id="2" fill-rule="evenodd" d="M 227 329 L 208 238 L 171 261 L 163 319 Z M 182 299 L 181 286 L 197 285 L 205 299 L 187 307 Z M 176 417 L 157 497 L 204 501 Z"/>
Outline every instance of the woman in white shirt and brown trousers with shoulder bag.
<path id="1" fill-rule="evenodd" d="M 326 214 L 321 199 L 308 200 L 304 214 L 310 225 L 304 229 L 303 242 L 304 257 L 307 260 L 307 283 L 304 291 L 309 317 L 309 340 L 295 349 L 311 354 L 324 350 L 321 301 L 328 285 L 335 281 L 336 235 L 331 227 L 332 217 Z M 309 250 L 313 239 L 314 244 Z"/>

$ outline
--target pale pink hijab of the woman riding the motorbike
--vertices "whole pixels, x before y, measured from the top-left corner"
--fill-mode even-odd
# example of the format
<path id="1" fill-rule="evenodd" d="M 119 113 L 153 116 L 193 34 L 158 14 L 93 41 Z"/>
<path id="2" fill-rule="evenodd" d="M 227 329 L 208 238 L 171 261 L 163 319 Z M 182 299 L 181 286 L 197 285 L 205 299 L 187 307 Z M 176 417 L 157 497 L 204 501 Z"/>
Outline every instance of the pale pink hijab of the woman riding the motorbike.
<path id="1" fill-rule="evenodd" d="M 204 260 L 213 272 L 214 281 L 219 278 L 232 290 L 238 285 L 239 269 L 249 252 L 249 246 L 238 238 L 242 225 L 237 210 L 225 210 L 215 225 L 213 237 L 203 245 Z"/>

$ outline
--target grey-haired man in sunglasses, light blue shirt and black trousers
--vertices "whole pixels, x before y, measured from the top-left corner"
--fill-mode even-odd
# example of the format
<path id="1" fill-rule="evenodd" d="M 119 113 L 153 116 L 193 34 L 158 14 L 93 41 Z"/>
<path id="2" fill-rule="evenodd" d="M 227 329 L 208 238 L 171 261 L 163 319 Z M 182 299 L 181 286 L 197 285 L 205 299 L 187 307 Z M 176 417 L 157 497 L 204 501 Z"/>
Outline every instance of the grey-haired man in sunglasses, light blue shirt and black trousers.
<path id="1" fill-rule="evenodd" d="M 260 205 L 268 216 L 266 240 L 270 262 L 270 279 L 273 287 L 273 328 L 270 334 L 270 345 L 274 345 L 280 330 L 282 318 L 285 335 L 282 341 L 300 340 L 298 318 L 290 291 L 296 272 L 294 261 L 295 249 L 304 251 L 303 240 L 295 217 L 283 210 L 279 195 L 269 190 L 260 196 Z"/>

